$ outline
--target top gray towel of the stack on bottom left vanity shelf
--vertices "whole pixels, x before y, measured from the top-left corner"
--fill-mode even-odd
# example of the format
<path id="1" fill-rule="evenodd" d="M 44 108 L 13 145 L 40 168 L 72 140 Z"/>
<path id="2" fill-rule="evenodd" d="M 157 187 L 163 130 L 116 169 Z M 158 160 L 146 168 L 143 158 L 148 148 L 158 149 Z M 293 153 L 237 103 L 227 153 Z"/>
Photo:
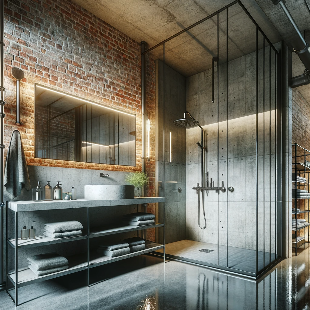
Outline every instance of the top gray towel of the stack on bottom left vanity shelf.
<path id="1" fill-rule="evenodd" d="M 68 259 L 57 253 L 33 255 L 27 257 L 27 260 L 36 270 L 45 270 L 69 264 Z"/>

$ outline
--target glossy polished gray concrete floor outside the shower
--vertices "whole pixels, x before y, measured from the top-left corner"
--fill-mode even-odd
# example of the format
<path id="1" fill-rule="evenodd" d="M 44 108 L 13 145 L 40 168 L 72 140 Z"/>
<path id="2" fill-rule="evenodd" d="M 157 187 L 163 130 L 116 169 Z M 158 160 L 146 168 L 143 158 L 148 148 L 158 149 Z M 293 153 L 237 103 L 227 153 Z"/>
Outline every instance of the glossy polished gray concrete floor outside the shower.
<path id="1" fill-rule="evenodd" d="M 285 259 L 258 282 L 194 265 L 140 255 L 19 289 L 19 310 L 306 310 L 309 248 Z M 105 280 L 105 281 L 102 281 Z M 0 309 L 15 309 L 5 291 Z"/>

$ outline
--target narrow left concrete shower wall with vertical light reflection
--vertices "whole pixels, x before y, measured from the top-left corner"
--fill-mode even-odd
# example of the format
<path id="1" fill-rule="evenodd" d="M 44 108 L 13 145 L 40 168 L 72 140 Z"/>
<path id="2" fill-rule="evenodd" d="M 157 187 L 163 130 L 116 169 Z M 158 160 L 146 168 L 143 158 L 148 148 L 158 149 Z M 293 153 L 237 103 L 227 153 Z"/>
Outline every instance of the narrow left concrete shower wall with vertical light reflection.
<path id="1" fill-rule="evenodd" d="M 156 184 L 157 195 L 165 194 L 165 242 L 186 238 L 186 133 L 173 121 L 184 117 L 186 108 L 186 79 L 184 76 L 156 60 Z M 163 84 L 165 74 L 165 87 Z M 163 97 L 165 96 L 165 97 Z M 163 149 L 163 130 L 165 131 Z M 171 161 L 169 133 L 171 133 Z M 163 193 L 162 182 L 165 182 Z M 181 188 L 182 192 L 178 192 Z M 158 208 L 158 221 L 163 220 L 162 205 Z M 158 231 L 158 240 L 162 240 Z"/>

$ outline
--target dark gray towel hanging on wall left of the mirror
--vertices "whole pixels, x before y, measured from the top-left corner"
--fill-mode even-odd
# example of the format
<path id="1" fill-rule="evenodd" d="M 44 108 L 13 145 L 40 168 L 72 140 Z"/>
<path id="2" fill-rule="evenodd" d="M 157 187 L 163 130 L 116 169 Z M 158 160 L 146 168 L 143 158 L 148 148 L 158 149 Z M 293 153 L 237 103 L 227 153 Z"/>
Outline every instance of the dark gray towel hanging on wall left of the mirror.
<path id="1" fill-rule="evenodd" d="M 12 132 L 7 152 L 4 187 L 6 188 L 4 194 L 9 199 L 19 196 L 23 188 L 31 189 L 24 145 L 18 130 Z"/>

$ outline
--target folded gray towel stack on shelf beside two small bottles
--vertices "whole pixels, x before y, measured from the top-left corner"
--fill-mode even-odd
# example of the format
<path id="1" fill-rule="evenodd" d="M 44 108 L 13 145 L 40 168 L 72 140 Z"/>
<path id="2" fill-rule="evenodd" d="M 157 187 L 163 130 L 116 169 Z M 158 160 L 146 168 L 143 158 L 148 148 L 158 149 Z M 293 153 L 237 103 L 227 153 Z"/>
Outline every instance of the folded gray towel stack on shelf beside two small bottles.
<path id="1" fill-rule="evenodd" d="M 43 234 L 54 239 L 75 237 L 82 235 L 82 229 L 83 226 L 78 221 L 47 223 Z"/>

